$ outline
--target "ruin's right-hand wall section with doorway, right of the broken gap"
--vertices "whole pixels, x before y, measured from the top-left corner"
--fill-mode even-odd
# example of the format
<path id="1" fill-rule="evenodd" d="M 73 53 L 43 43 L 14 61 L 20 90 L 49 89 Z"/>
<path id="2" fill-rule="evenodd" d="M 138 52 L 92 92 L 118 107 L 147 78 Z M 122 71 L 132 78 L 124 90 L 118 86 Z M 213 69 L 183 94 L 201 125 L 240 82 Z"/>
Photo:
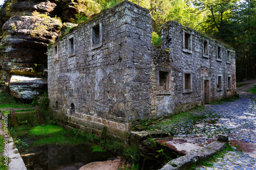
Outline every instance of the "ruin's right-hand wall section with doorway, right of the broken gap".
<path id="1" fill-rule="evenodd" d="M 191 50 L 184 49 L 184 33 L 191 36 Z M 162 49 L 169 51 L 172 90 L 164 96 L 158 107 L 161 112 L 187 111 L 195 106 L 221 100 L 235 94 L 236 63 L 235 52 L 227 45 L 213 40 L 193 29 L 183 27 L 175 21 L 168 21 L 162 28 Z M 208 52 L 204 51 L 207 42 Z M 190 42 L 189 42 L 190 43 Z M 217 46 L 221 48 L 221 57 L 217 57 Z M 227 59 L 227 51 L 230 59 Z M 185 74 L 191 76 L 191 88 L 184 89 Z M 218 86 L 218 77 L 221 85 Z M 230 86 L 228 87 L 228 77 Z M 206 87 L 209 83 L 209 87 Z M 207 91 L 208 88 L 209 91 Z M 207 96 L 205 96 L 207 93 Z"/>

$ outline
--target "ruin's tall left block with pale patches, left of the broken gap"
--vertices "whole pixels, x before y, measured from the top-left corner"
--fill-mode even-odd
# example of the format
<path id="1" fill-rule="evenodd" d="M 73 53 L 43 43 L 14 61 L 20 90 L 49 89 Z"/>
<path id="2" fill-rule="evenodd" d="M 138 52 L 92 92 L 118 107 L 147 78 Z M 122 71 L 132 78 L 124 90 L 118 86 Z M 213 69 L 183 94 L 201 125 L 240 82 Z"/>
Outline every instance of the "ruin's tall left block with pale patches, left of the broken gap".
<path id="1" fill-rule="evenodd" d="M 61 124 L 119 134 L 148 112 L 151 22 L 146 9 L 124 1 L 49 47 L 50 107 Z"/>

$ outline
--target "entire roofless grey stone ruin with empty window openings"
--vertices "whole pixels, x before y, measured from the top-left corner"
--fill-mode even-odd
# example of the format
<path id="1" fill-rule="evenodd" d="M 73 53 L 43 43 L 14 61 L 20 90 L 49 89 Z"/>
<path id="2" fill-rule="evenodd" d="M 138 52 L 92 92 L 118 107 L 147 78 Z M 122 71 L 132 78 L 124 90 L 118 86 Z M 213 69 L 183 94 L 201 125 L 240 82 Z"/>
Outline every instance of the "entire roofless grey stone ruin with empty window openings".
<path id="1" fill-rule="evenodd" d="M 168 21 L 157 50 L 151 23 L 148 10 L 124 1 L 48 48 L 50 108 L 60 124 L 122 136 L 140 120 L 235 94 L 233 49 Z"/>

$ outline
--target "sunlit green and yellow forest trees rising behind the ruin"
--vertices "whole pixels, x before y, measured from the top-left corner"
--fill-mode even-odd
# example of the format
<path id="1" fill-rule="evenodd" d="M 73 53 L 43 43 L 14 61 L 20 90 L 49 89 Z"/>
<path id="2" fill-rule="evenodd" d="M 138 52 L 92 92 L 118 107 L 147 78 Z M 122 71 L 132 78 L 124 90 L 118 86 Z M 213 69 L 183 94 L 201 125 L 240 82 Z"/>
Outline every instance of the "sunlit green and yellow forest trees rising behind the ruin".
<path id="1" fill-rule="evenodd" d="M 17 0 L 5 0 L 5 4 L 8 5 L 7 2 L 14 1 L 17 2 Z M 91 15 L 113 7 L 121 1 L 123 0 L 58 0 L 56 4 L 61 7 L 67 2 L 74 2 L 77 14 L 70 20 L 74 23 L 81 23 Z M 175 20 L 183 26 L 207 34 L 213 39 L 233 47 L 236 50 L 238 80 L 256 77 L 255 0 L 130 1 L 150 11 L 153 19 L 153 41 L 155 41 L 153 45 L 160 46 L 161 44 L 160 34 L 163 23 L 168 20 Z"/>

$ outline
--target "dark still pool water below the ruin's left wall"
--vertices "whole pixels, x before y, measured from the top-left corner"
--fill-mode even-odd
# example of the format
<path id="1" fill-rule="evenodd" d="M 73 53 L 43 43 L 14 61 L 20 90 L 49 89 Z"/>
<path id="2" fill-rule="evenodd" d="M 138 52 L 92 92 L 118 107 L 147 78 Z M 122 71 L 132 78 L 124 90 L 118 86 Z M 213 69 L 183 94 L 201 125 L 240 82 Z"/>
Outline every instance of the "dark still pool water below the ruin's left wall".
<path id="1" fill-rule="evenodd" d="M 57 144 L 34 148 L 22 158 L 28 169 L 79 169 L 82 165 L 105 161 L 116 155 L 111 152 L 92 152 L 92 144 L 79 144 L 73 147 Z"/>

